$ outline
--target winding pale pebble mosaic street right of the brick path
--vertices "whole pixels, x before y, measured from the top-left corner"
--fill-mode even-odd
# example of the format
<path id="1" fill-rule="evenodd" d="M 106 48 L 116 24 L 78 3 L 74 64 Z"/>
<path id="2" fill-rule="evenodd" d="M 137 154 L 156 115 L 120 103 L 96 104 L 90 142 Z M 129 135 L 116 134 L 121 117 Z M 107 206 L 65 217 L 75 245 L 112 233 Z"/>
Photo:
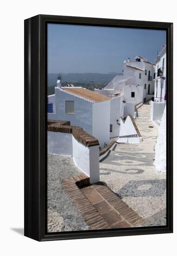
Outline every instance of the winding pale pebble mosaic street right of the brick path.
<path id="1" fill-rule="evenodd" d="M 153 165 L 157 128 L 151 122 L 149 103 L 138 108 L 136 125 L 143 141 L 118 143 L 100 162 L 100 181 L 106 182 L 139 216 L 144 225 L 166 225 L 166 174 Z"/>

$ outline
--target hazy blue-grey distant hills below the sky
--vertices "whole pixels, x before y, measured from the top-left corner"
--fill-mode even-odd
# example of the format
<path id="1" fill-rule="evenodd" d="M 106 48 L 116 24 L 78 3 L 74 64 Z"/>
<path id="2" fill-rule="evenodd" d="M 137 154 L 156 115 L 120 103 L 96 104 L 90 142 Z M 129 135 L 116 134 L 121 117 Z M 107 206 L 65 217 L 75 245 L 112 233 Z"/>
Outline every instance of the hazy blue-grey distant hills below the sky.
<path id="1" fill-rule="evenodd" d="M 67 83 L 80 83 L 80 84 L 95 84 L 103 85 L 109 83 L 112 78 L 118 73 L 110 72 L 108 74 L 99 73 L 60 73 L 61 81 Z M 48 74 L 48 87 L 55 86 L 57 83 L 57 76 L 59 74 Z"/>

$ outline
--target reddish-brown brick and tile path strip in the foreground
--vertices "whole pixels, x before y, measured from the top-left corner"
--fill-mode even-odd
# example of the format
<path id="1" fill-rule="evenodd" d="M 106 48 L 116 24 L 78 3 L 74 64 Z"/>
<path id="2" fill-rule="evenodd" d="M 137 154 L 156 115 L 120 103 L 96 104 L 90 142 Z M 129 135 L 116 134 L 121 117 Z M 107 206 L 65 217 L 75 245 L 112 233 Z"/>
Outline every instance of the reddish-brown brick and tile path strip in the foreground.
<path id="1" fill-rule="evenodd" d="M 90 229 L 117 229 L 141 226 L 143 219 L 102 182 L 91 186 L 85 174 L 65 179 L 63 189 L 84 217 Z"/>

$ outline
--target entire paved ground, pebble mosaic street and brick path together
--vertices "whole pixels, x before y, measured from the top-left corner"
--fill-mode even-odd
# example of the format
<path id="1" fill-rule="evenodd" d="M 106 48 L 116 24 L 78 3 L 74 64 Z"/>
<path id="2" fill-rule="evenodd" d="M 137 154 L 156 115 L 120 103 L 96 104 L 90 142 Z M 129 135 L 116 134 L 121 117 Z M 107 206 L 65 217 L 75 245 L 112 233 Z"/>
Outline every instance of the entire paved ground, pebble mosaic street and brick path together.
<path id="1" fill-rule="evenodd" d="M 100 161 L 103 183 L 83 189 L 73 184 L 73 194 L 62 182 L 83 174 L 72 157 L 48 155 L 48 232 L 166 225 L 166 174 L 153 165 L 157 128 L 149 104 L 138 109 L 135 122 L 143 141 L 117 143 Z"/>

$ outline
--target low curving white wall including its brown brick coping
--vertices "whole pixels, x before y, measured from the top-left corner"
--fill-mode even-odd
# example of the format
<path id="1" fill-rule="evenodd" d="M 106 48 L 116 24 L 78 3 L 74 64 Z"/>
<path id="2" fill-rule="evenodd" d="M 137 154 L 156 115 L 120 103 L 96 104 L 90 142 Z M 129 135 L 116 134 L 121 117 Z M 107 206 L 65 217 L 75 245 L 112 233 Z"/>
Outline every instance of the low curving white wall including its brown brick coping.
<path id="1" fill-rule="evenodd" d="M 67 121 L 66 121 L 67 122 Z M 51 154 L 72 156 L 75 165 L 90 177 L 99 181 L 99 143 L 81 127 L 63 125 L 62 121 L 49 121 L 47 126 L 48 151 Z"/>

